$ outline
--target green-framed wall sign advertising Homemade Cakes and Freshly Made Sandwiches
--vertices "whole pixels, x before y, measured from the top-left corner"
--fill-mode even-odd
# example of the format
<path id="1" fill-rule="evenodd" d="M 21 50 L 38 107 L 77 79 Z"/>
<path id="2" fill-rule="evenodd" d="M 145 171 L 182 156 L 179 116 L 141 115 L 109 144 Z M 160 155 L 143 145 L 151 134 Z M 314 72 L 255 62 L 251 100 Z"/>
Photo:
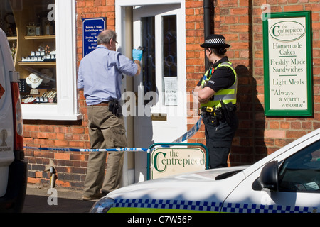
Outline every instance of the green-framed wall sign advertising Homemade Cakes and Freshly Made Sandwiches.
<path id="1" fill-rule="evenodd" d="M 312 116 L 311 12 L 263 21 L 265 115 Z"/>

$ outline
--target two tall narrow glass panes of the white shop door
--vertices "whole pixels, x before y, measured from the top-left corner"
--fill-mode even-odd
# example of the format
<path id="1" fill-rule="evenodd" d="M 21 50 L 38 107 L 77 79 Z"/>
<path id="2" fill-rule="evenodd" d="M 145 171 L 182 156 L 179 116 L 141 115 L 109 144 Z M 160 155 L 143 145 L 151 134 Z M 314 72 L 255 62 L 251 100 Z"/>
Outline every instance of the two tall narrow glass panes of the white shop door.
<path id="1" fill-rule="evenodd" d="M 166 99 L 164 105 L 176 106 L 177 92 L 177 28 L 176 15 L 162 16 L 161 42 L 162 42 L 162 72 Z M 144 97 L 148 92 L 156 91 L 156 25 L 155 17 L 142 17 L 142 46 L 144 55 L 142 59 L 142 82 L 144 85 Z M 144 105 L 150 104 L 151 100 L 144 100 Z M 156 102 L 154 100 L 154 102 Z"/>

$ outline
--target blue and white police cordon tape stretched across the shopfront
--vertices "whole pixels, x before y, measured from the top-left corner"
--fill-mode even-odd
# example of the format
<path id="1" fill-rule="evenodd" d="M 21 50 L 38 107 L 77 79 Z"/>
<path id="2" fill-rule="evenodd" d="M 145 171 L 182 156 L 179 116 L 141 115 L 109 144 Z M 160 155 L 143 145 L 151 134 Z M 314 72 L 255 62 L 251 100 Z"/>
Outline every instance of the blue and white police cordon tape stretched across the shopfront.
<path id="1" fill-rule="evenodd" d="M 202 116 L 198 119 L 197 123 L 180 138 L 177 138 L 172 143 L 182 143 L 195 135 L 201 126 Z M 35 148 L 35 147 L 23 147 L 30 150 L 53 150 L 53 151 L 70 151 L 70 152 L 147 152 L 148 148 L 108 148 L 108 149 L 78 149 L 78 148 Z"/>

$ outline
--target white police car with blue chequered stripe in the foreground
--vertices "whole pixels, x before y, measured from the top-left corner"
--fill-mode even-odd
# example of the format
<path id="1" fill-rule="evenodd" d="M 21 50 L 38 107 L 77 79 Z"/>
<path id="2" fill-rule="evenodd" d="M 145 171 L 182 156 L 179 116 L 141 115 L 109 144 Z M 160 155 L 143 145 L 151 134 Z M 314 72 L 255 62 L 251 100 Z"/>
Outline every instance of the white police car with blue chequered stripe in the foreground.
<path id="1" fill-rule="evenodd" d="M 320 128 L 248 167 L 186 173 L 117 189 L 91 212 L 319 213 Z"/>

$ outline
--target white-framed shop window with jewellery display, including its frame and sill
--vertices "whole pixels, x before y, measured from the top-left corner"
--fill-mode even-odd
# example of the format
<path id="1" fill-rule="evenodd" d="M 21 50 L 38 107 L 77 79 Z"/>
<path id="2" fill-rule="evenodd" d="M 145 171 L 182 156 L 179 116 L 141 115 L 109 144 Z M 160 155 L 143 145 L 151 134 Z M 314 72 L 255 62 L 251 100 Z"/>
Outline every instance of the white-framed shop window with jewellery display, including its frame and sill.
<path id="1" fill-rule="evenodd" d="M 75 1 L 0 0 L 1 28 L 20 73 L 23 119 L 78 120 Z"/>

